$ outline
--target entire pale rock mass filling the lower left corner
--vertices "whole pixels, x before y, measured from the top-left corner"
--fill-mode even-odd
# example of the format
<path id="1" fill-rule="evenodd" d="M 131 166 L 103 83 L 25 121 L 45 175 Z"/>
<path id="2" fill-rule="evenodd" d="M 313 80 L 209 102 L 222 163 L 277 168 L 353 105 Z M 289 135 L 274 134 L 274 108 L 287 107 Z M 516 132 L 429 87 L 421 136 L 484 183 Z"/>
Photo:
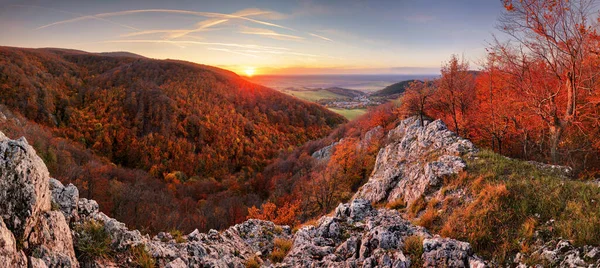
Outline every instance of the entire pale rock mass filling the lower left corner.
<path id="1" fill-rule="evenodd" d="M 21 266 L 79 267 L 63 214 L 50 210 L 49 184 L 48 169 L 27 140 L 0 132 L 0 259 Z"/>

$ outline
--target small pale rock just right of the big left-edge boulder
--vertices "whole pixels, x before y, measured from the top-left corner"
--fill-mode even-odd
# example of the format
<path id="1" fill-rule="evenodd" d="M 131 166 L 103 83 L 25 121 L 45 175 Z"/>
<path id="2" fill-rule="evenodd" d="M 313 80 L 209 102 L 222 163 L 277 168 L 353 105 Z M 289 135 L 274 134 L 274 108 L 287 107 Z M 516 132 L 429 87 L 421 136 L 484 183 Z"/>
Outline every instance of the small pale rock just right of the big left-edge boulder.
<path id="1" fill-rule="evenodd" d="M 75 185 L 69 183 L 65 187 L 60 181 L 50 178 L 50 191 L 52 191 L 52 203 L 58 205 L 67 222 L 77 217 L 79 191 Z"/>

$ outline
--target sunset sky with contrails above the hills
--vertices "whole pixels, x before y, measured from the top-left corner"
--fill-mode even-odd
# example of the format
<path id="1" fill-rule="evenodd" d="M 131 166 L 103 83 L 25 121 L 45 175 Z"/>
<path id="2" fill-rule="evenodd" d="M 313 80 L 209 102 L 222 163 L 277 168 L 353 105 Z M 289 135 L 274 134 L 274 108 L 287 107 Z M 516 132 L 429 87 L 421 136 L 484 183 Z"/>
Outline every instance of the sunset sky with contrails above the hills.
<path id="1" fill-rule="evenodd" d="M 128 51 L 239 74 L 433 74 L 476 62 L 500 0 L 0 0 L 0 45 Z"/>

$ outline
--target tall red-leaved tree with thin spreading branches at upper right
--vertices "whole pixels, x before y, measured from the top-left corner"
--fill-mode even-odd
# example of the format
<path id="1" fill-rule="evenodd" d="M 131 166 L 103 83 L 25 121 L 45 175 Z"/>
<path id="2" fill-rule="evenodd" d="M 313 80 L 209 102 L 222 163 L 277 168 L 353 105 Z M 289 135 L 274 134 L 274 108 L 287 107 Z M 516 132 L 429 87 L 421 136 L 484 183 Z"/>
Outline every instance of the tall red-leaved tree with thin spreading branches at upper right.
<path id="1" fill-rule="evenodd" d="M 551 158 L 558 161 L 558 146 L 565 129 L 578 120 L 584 85 L 593 73 L 584 61 L 591 53 L 593 25 L 589 18 L 593 0 L 504 0 L 506 12 L 500 30 L 516 44 L 498 44 L 515 69 L 529 76 L 542 68 L 547 83 L 523 87 L 528 105 L 549 130 Z M 532 69 L 536 68 L 536 69 Z M 527 77 L 522 77 L 527 78 Z"/>

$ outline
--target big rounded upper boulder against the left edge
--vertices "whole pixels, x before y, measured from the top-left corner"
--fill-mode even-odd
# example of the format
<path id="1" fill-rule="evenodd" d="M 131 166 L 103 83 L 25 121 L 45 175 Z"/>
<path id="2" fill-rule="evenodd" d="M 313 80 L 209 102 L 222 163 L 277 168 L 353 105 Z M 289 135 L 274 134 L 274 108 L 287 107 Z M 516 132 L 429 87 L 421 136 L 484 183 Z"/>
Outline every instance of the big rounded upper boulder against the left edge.
<path id="1" fill-rule="evenodd" d="M 0 216 L 15 239 L 27 237 L 35 215 L 50 210 L 49 177 L 25 138 L 10 140 L 0 132 Z"/>

